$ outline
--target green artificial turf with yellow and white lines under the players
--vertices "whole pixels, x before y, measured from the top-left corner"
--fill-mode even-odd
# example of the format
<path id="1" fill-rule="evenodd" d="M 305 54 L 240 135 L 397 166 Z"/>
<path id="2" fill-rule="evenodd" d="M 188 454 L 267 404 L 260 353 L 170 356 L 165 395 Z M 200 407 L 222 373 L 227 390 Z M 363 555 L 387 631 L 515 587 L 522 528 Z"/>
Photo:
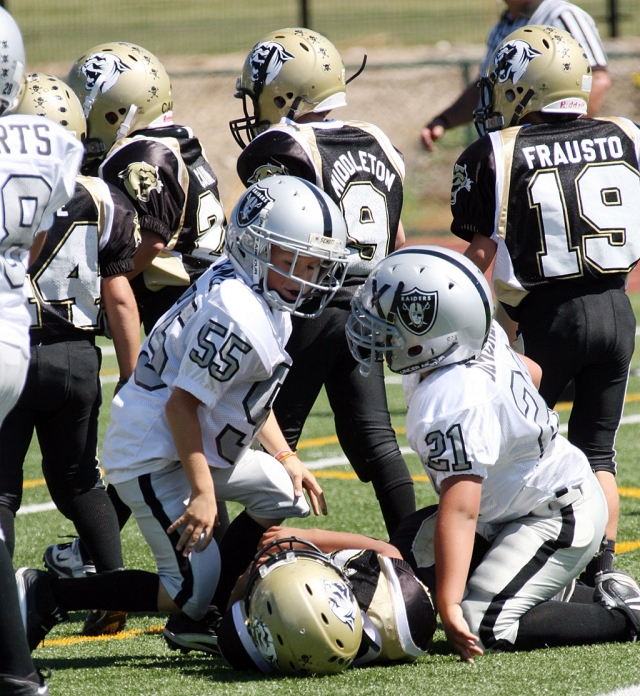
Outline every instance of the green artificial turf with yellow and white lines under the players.
<path id="1" fill-rule="evenodd" d="M 640 317 L 640 293 L 630 294 Z M 640 323 L 640 322 L 639 322 Z M 108 405 L 117 379 L 117 365 L 110 345 L 103 360 L 104 405 L 101 434 L 108 423 Z M 638 373 L 638 374 L 636 374 Z M 398 441 L 407 448 L 404 436 L 405 406 L 399 380 L 388 379 L 389 405 Z M 569 404 L 559 404 L 566 424 Z M 621 514 L 616 567 L 640 579 L 640 351 L 632 362 L 623 424 L 616 443 Z M 329 515 L 294 520 L 293 526 L 322 526 L 356 531 L 386 538 L 373 490 L 359 482 L 344 462 L 336 442 L 333 417 L 326 399 L 316 404 L 299 446 L 303 461 L 314 467 L 324 488 Z M 404 449 L 403 449 L 404 451 Z M 419 506 L 435 502 L 424 471 L 413 454 L 406 454 L 414 475 Z M 32 443 L 25 463 L 23 508 L 16 521 L 16 568 L 42 567 L 47 545 L 64 541 L 73 526 L 57 510 L 49 509 L 50 498 L 42 480 L 37 443 Z M 232 514 L 237 507 L 230 506 Z M 125 562 L 130 568 L 154 570 L 153 558 L 138 532 L 135 521 L 123 530 Z M 127 696 L 204 694 L 409 694 L 438 696 L 516 696 L 520 694 L 596 695 L 631 684 L 640 684 L 640 644 L 622 643 L 575 648 L 553 648 L 520 654 L 488 654 L 475 664 L 461 663 L 449 649 L 444 633 L 436 632 L 428 655 L 415 663 L 394 667 L 351 669 L 342 674 L 309 679 L 290 679 L 234 672 L 220 658 L 200 653 L 183 655 L 169 650 L 159 635 L 162 615 L 129 616 L 127 629 L 115 637 L 80 636 L 84 612 L 71 614 L 71 621 L 56 627 L 44 644 L 34 651 L 38 667 L 49 667 L 53 696 L 109 694 Z M 639 687 L 640 688 L 640 687 Z"/>

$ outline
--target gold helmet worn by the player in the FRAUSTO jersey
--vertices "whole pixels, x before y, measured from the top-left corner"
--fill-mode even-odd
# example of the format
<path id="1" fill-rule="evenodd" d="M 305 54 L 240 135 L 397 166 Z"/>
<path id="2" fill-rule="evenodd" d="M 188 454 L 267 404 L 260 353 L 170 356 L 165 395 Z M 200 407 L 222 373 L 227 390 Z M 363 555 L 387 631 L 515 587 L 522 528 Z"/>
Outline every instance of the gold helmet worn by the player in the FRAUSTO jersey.
<path id="1" fill-rule="evenodd" d="M 498 46 L 480 79 L 480 135 L 517 125 L 532 111 L 585 114 L 591 66 L 580 44 L 563 29 L 522 27 Z"/>

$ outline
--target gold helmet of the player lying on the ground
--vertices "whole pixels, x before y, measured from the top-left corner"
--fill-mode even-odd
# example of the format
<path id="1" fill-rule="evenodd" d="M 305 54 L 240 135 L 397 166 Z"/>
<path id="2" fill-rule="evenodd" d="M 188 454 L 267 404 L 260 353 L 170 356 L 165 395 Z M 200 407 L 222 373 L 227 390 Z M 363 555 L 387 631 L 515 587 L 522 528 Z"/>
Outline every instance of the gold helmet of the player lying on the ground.
<path id="1" fill-rule="evenodd" d="M 362 627 L 342 571 L 316 546 L 291 537 L 260 550 L 245 597 L 225 615 L 218 640 L 236 669 L 321 676 L 352 664 Z"/>

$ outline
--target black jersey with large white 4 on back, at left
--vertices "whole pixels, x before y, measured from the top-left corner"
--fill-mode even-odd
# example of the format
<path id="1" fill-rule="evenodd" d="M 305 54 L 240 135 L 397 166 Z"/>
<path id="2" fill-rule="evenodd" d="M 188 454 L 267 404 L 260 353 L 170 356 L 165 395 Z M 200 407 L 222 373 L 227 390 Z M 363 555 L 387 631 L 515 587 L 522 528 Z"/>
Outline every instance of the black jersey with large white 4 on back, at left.
<path id="1" fill-rule="evenodd" d="M 32 343 L 104 333 L 100 279 L 133 270 L 138 216 L 117 189 L 79 176 L 29 268 Z"/>

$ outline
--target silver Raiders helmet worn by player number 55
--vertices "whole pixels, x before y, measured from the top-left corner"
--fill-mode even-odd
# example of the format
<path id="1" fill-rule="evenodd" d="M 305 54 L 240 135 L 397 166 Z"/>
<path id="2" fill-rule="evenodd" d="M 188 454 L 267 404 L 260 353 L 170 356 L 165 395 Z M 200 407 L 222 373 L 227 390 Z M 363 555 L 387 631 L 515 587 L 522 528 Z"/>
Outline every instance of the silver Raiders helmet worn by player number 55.
<path id="1" fill-rule="evenodd" d="M 317 316 L 342 285 L 346 243 L 346 225 L 338 206 L 317 186 L 293 176 L 270 176 L 249 187 L 226 230 L 227 255 L 251 287 L 271 307 L 302 317 Z M 294 254 L 288 273 L 271 262 L 273 246 Z M 321 260 L 310 281 L 294 274 L 299 256 Z M 294 301 L 269 289 L 269 271 L 299 283 Z"/>

